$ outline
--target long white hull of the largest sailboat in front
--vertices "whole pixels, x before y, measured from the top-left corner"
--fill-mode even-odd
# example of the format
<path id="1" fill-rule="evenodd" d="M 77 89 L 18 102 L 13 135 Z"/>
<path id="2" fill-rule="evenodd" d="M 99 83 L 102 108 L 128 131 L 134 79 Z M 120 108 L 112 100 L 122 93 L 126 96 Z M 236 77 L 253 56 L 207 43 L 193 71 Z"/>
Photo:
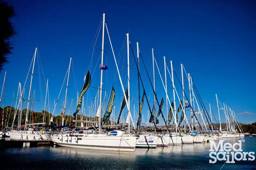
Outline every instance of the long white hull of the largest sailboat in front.
<path id="1" fill-rule="evenodd" d="M 105 134 L 54 135 L 54 144 L 77 149 L 134 152 L 136 136 L 108 136 Z"/>

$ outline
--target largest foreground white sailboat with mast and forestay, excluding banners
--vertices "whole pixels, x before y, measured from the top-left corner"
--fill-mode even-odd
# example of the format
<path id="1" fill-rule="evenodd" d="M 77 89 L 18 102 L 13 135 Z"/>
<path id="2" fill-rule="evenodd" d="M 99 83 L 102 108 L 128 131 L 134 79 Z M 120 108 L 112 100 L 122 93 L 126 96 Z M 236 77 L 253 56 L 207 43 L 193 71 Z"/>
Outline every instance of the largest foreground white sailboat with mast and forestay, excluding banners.
<path id="1" fill-rule="evenodd" d="M 103 53 L 104 53 L 104 29 L 108 27 L 105 22 L 105 13 L 103 13 L 103 24 L 102 24 L 102 51 L 101 51 L 101 65 L 103 65 Z M 108 33 L 109 42 L 112 48 L 111 40 Z M 112 48 L 112 52 L 114 55 L 115 63 L 116 57 Z M 116 63 L 116 68 L 119 76 L 119 80 L 122 86 L 123 93 L 124 86 L 120 77 L 119 69 Z M 108 134 L 101 133 L 101 106 L 102 106 L 102 78 L 103 78 L 103 70 L 100 73 L 100 107 L 99 107 L 99 133 L 73 133 L 73 134 L 58 134 L 52 137 L 52 142 L 54 144 L 58 144 L 63 147 L 72 147 L 72 148 L 79 148 L 79 149 L 95 149 L 95 150 L 109 150 L 109 151 L 129 151 L 134 152 L 135 145 L 137 141 L 137 136 L 132 136 L 130 134 L 124 134 L 123 131 L 110 131 Z M 128 108 L 128 114 L 132 119 L 130 113 L 130 107 L 128 105 L 128 101 L 125 96 L 125 102 Z M 130 126 L 130 123 L 129 123 Z"/>

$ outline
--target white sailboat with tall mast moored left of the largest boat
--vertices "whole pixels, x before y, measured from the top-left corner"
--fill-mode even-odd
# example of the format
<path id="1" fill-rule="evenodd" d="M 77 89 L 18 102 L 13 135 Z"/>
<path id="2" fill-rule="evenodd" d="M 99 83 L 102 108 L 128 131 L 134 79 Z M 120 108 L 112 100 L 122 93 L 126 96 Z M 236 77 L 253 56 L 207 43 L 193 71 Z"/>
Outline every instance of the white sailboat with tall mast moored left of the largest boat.
<path id="1" fill-rule="evenodd" d="M 18 128 L 24 127 L 24 130 L 19 130 L 17 128 L 17 130 L 11 130 L 10 131 L 10 140 L 19 140 L 19 141 L 34 141 L 34 140 L 49 140 L 49 136 L 48 134 L 46 134 L 43 130 L 35 130 L 34 128 L 28 128 L 28 126 L 30 125 L 44 125 L 45 123 L 32 123 L 32 124 L 28 124 L 28 111 L 29 111 L 29 104 L 30 104 L 30 98 L 31 98 L 31 87 L 32 87 L 32 80 L 33 80 L 33 73 L 34 73 L 34 67 L 35 67 L 35 61 L 36 61 L 36 54 L 37 54 L 37 48 L 35 50 L 32 62 L 33 62 L 33 67 L 32 67 L 32 74 L 31 74 L 31 81 L 30 81 L 30 88 L 29 88 L 29 94 L 28 94 L 28 106 L 27 106 L 27 113 L 26 113 L 26 120 L 25 120 L 25 125 L 24 126 L 18 126 Z M 31 64 L 32 64 L 31 62 Z M 31 65 L 30 65 L 31 68 Z M 30 70 L 29 68 L 29 70 Z M 29 71 L 28 71 L 29 73 Z M 27 75 L 28 78 L 28 75 Z M 27 81 L 26 78 L 26 81 Z M 25 85 L 26 85 L 26 81 L 25 81 Z M 21 92 L 21 87 L 20 87 L 20 100 L 19 100 L 19 104 L 18 104 L 18 108 L 21 106 L 22 103 L 22 96 L 24 94 L 25 91 L 25 85 L 23 87 L 23 90 Z M 20 110 L 22 110 L 22 108 L 20 107 Z M 13 122 L 12 122 L 12 129 L 14 126 L 14 120 L 16 117 L 16 114 L 18 112 L 18 109 L 16 109 L 15 114 L 14 114 L 14 118 L 13 118 Z M 20 117 L 20 122 L 21 122 L 21 117 Z"/>

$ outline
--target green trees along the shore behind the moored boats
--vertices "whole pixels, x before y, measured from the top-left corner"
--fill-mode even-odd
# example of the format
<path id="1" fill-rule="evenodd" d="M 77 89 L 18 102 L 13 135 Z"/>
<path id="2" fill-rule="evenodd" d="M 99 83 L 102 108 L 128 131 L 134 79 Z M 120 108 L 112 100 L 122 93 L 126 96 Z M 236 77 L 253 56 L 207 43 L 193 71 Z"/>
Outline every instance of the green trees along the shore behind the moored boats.
<path id="1" fill-rule="evenodd" d="M 27 112 L 27 109 L 22 110 L 21 122 L 23 124 L 25 122 L 26 112 Z M 18 122 L 18 113 L 19 113 L 19 109 L 17 111 L 17 115 L 16 115 L 16 118 L 15 118 L 15 121 L 14 121 L 14 126 L 17 125 L 17 122 Z M 33 116 L 32 116 L 31 113 L 32 113 L 32 111 L 29 110 L 28 111 L 28 123 L 32 123 L 32 119 L 33 119 L 34 123 L 42 123 L 43 122 L 43 116 L 45 114 L 45 119 L 46 119 L 45 125 L 49 125 L 50 119 L 52 117 L 51 113 L 49 113 L 48 111 L 44 111 L 44 110 L 42 110 L 41 112 L 34 112 L 33 111 Z M 58 113 L 59 112 L 57 112 L 57 114 Z M 0 117 L 1 118 L 2 118 L 2 114 L 3 114 L 3 108 L 0 107 Z M 6 120 L 6 123 L 8 122 L 6 127 L 10 128 L 12 126 L 14 114 L 15 114 L 15 108 L 14 107 L 11 107 L 11 106 L 4 107 L 4 125 L 5 125 L 5 120 Z M 54 126 L 60 126 L 61 121 L 62 121 L 62 116 L 61 115 L 56 115 L 56 113 L 54 115 L 55 115 L 55 116 L 53 116 Z M 77 120 L 81 120 L 81 116 L 82 115 L 77 114 Z M 71 120 L 71 122 L 70 122 L 70 120 Z M 70 115 L 65 115 L 65 123 L 67 125 L 71 125 L 72 120 L 73 120 L 72 113 Z M 83 116 L 83 120 L 98 121 L 98 120 L 96 120 L 95 117 L 88 117 L 88 116 L 85 116 L 85 115 Z M 110 124 L 111 122 L 114 122 L 114 121 L 109 120 L 108 124 Z M 116 124 L 116 122 L 114 122 L 114 123 Z M 252 124 L 243 124 L 243 123 L 240 123 L 240 124 L 241 124 L 241 127 L 242 127 L 245 135 L 256 135 L 256 122 L 254 122 Z M 77 122 L 77 126 L 78 127 L 81 126 L 81 123 Z M 208 125 L 206 125 L 206 126 L 208 126 Z M 158 127 L 158 129 L 166 129 L 165 126 L 157 126 L 157 127 Z M 169 125 L 169 128 L 174 128 L 174 125 Z M 222 130 L 226 130 L 226 123 L 221 123 L 221 128 L 222 128 Z M 144 126 L 144 129 L 145 130 L 152 129 L 152 127 L 151 126 Z M 210 128 L 208 128 L 208 129 L 210 129 Z M 213 129 L 218 130 L 219 129 L 219 123 L 213 123 Z"/>

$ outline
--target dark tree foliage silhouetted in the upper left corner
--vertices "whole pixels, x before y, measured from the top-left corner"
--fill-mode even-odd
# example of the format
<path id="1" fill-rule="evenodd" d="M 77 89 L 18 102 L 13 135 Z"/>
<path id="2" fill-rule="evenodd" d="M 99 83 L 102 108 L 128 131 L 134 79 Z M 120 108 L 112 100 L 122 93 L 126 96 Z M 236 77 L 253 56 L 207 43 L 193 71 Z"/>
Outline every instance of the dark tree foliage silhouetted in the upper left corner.
<path id="1" fill-rule="evenodd" d="M 4 63 L 8 63 L 7 56 L 12 53 L 12 37 L 16 34 L 10 19 L 15 16 L 12 6 L 0 0 L 0 71 Z"/>

